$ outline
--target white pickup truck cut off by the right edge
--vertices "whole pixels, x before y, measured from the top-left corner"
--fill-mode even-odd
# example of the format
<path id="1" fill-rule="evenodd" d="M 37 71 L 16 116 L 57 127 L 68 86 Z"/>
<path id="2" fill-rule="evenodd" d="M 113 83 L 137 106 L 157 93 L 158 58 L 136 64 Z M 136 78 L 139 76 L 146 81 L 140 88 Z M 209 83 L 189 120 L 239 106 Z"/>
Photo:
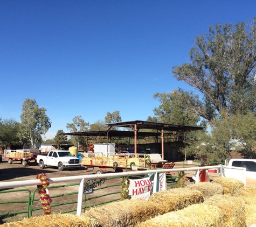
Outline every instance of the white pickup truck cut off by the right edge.
<path id="1" fill-rule="evenodd" d="M 256 185 L 256 159 L 226 159 L 225 166 L 246 168 L 246 185 Z"/>

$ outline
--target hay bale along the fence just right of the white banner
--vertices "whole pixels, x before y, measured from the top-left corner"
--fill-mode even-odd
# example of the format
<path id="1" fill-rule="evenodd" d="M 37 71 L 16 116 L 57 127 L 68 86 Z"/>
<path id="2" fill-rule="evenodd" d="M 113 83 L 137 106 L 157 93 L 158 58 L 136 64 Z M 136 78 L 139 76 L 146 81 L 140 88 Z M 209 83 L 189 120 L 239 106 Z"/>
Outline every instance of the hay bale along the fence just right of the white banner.
<path id="1" fill-rule="evenodd" d="M 203 194 L 189 188 L 175 188 L 167 191 L 158 191 L 148 198 L 148 201 L 160 204 L 160 214 L 180 210 L 188 205 L 202 203 Z"/>

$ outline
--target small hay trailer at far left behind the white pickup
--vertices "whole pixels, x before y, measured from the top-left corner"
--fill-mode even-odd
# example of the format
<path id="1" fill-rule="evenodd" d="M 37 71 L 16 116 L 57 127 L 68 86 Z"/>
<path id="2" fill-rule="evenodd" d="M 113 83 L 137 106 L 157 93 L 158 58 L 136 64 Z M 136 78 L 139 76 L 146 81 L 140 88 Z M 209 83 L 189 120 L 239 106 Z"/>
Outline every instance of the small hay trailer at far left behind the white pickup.
<path id="1" fill-rule="evenodd" d="M 38 149 L 4 150 L 4 158 L 8 159 L 9 164 L 12 164 L 13 161 L 20 161 L 23 166 L 26 166 L 32 160 L 36 161 L 39 154 L 39 152 L 36 153 L 36 150 L 38 152 Z"/>

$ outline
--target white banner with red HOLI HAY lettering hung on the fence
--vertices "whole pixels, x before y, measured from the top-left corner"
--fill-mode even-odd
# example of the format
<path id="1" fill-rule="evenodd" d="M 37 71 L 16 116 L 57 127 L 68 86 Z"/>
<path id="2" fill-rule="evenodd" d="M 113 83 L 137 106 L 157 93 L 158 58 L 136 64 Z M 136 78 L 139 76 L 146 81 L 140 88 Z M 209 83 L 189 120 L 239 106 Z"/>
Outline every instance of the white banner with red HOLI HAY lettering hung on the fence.
<path id="1" fill-rule="evenodd" d="M 148 175 L 148 178 L 130 180 L 129 195 L 132 196 L 132 200 L 135 198 L 147 200 L 156 191 L 167 190 L 165 173 Z"/>

